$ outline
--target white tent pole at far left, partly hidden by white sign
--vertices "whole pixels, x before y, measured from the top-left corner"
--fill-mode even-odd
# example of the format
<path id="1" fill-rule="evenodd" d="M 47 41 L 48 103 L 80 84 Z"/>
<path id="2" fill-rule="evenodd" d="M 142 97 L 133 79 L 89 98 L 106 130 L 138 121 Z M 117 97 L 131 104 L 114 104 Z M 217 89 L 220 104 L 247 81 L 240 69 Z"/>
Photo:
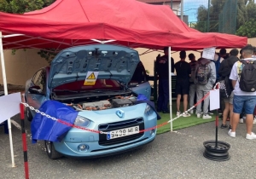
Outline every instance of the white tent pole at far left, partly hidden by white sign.
<path id="1" fill-rule="evenodd" d="M 0 32 L 0 55 L 1 55 L 0 57 L 1 57 L 2 72 L 3 72 L 3 89 L 4 89 L 4 95 L 8 95 L 5 65 L 4 65 L 4 59 L 3 59 L 3 39 L 2 38 L 3 38 L 2 32 Z M 15 167 L 15 156 L 14 156 L 13 137 L 12 137 L 10 118 L 8 119 L 8 128 L 9 128 L 9 146 L 10 146 L 10 152 L 11 152 L 11 158 L 12 158 L 12 167 Z"/>

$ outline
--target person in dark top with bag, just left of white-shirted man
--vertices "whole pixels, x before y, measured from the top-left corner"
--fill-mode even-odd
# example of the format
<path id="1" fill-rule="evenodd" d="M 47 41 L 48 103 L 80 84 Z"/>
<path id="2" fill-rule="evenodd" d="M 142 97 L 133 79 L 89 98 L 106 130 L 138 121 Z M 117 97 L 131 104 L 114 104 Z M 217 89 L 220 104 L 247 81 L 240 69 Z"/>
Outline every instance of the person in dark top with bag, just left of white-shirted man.
<path id="1" fill-rule="evenodd" d="M 233 87 L 232 82 L 230 80 L 230 72 L 232 69 L 232 66 L 236 63 L 236 61 L 239 61 L 239 58 L 237 57 L 239 51 L 238 49 L 231 49 L 230 50 L 230 57 L 227 59 L 224 59 L 224 61 L 221 62 L 219 69 L 218 69 L 218 75 L 219 75 L 219 95 L 220 98 L 224 101 L 224 112 L 223 112 L 223 121 L 221 124 L 221 128 L 227 128 L 228 125 L 226 124 L 228 114 L 230 114 L 230 124 L 232 123 L 232 115 L 233 115 Z M 231 125 L 230 125 L 231 129 Z"/>

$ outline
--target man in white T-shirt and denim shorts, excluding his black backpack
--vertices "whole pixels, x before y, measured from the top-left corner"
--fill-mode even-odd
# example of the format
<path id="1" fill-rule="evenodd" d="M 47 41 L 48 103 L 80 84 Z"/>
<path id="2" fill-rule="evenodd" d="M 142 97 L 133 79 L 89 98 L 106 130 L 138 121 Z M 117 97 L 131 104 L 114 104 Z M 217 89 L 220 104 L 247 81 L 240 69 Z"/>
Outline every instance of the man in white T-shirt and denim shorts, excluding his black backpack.
<path id="1" fill-rule="evenodd" d="M 252 58 L 253 46 L 248 44 L 241 50 L 241 56 L 247 63 L 253 63 L 255 60 Z M 240 88 L 240 77 L 242 68 L 244 65 L 241 61 L 237 61 L 232 67 L 230 73 L 230 79 L 232 80 L 232 85 L 234 87 L 234 101 L 233 101 L 233 117 L 232 117 L 232 129 L 229 130 L 228 134 L 231 137 L 236 137 L 236 127 L 239 122 L 240 113 L 242 108 L 246 113 L 246 124 L 247 124 L 247 139 L 256 139 L 256 135 L 252 132 L 253 130 L 253 111 L 256 105 L 256 91 L 246 92 Z"/>

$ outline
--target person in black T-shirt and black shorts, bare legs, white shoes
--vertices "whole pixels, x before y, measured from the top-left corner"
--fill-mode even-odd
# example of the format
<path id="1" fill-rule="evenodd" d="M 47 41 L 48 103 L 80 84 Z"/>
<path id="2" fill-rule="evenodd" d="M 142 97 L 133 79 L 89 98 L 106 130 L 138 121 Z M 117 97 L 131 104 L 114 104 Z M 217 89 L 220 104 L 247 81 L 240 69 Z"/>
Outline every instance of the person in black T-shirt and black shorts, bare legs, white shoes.
<path id="1" fill-rule="evenodd" d="M 180 112 L 180 101 L 183 95 L 183 117 L 189 117 L 190 114 L 187 113 L 188 109 L 188 95 L 189 95 L 189 76 L 191 76 L 191 68 L 186 59 L 186 52 L 180 51 L 179 53 L 180 61 L 178 61 L 174 68 L 177 73 L 176 80 L 176 93 L 177 93 L 177 116 L 181 115 Z"/>

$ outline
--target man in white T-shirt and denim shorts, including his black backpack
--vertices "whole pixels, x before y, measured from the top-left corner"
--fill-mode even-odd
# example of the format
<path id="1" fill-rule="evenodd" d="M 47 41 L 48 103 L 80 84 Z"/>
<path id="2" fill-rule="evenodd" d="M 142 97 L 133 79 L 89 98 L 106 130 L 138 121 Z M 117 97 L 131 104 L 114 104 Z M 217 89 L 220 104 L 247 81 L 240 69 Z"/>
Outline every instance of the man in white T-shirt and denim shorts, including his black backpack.
<path id="1" fill-rule="evenodd" d="M 232 67 L 230 79 L 234 88 L 232 129 L 228 135 L 236 137 L 236 127 L 242 108 L 246 113 L 246 139 L 256 139 L 253 130 L 253 111 L 256 106 L 256 61 L 252 58 L 253 46 L 248 44 L 241 50 L 243 60 Z"/>

